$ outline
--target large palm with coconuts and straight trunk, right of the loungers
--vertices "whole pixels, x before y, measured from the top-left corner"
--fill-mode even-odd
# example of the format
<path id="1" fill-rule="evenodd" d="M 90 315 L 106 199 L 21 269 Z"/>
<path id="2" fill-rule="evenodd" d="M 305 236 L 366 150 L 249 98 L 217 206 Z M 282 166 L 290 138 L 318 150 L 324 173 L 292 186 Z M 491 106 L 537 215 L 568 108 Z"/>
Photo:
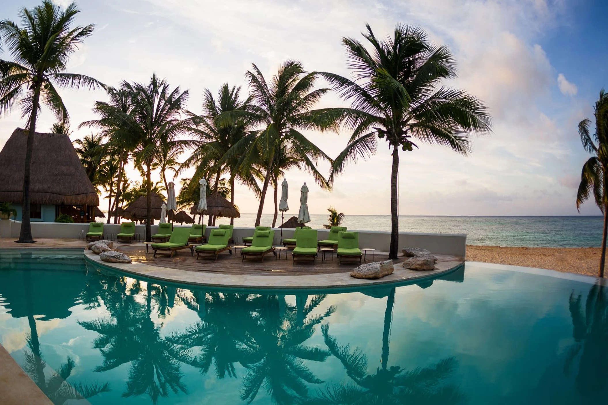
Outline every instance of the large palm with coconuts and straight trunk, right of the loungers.
<path id="1" fill-rule="evenodd" d="M 393 38 L 379 41 L 367 27 L 363 36 L 371 50 L 353 38 L 342 38 L 354 80 L 334 73 L 328 80 L 351 108 L 333 109 L 353 133 L 331 169 L 330 180 L 344 171 L 345 163 L 376 152 L 376 139 L 384 138 L 392 151 L 390 177 L 391 239 L 389 259 L 396 259 L 399 242 L 397 175 L 399 147 L 412 151 L 413 140 L 448 146 L 461 154 L 471 150 L 469 134 L 487 133 L 491 118 L 485 105 L 462 90 L 439 87 L 454 78 L 454 57 L 436 46 L 417 27 L 397 26 Z"/>

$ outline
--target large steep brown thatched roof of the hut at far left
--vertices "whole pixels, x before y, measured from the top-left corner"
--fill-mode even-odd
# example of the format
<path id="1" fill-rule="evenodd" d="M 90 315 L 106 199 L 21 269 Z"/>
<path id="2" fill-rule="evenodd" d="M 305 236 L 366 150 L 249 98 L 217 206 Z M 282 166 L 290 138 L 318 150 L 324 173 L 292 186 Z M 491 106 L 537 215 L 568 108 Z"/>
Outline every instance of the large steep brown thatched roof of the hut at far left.
<path id="1" fill-rule="evenodd" d="M 21 203 L 27 131 L 17 128 L 0 152 L 0 201 Z M 40 134 L 33 140 L 30 180 L 32 204 L 99 205 L 99 197 L 65 134 Z"/>

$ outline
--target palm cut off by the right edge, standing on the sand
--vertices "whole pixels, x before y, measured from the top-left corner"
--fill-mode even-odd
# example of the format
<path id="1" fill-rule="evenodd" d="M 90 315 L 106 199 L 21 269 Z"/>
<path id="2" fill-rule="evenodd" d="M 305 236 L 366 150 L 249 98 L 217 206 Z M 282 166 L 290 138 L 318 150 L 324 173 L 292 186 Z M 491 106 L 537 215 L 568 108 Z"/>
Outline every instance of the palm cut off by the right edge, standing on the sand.
<path id="1" fill-rule="evenodd" d="M 606 264 L 606 233 L 608 231 L 608 94 L 601 89 L 595 102 L 595 133 L 590 134 L 591 120 L 585 118 L 578 124 L 582 147 L 593 156 L 582 166 L 581 183 L 576 193 L 576 209 L 581 211 L 582 203 L 589 199 L 593 192 L 596 205 L 604 214 L 604 232 L 602 234 L 602 254 L 599 257 L 599 277 L 604 277 Z"/>

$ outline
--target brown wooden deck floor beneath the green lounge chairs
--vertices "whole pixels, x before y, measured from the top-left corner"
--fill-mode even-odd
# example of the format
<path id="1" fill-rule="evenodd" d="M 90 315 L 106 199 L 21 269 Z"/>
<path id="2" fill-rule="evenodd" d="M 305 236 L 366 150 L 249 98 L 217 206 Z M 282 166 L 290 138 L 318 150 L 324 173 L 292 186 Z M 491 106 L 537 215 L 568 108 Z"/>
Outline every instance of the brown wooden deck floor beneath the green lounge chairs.
<path id="1" fill-rule="evenodd" d="M 268 254 L 264 257 L 264 261 L 259 259 L 246 258 L 241 262 L 240 253 L 238 250 L 233 250 L 233 254 L 228 251 L 219 254 L 218 260 L 213 260 L 212 256 L 201 256 L 198 260 L 195 256 L 190 256 L 190 250 L 179 250 L 173 257 L 162 256 L 157 254 L 153 257 L 152 248 L 150 253 L 145 253 L 145 248 L 140 243 L 134 245 L 114 245 L 114 248 L 122 253 L 127 254 L 134 262 L 145 263 L 152 266 L 177 268 L 186 271 L 209 271 L 212 273 L 224 274 L 249 274 L 249 275 L 272 275 L 272 276 L 295 276 L 295 275 L 311 275 L 311 274 L 332 274 L 332 273 L 350 273 L 353 268 L 359 266 L 359 262 L 340 265 L 336 254 L 333 254 L 333 260 L 330 254 L 327 254 L 326 260 L 321 260 L 321 255 L 312 262 L 295 262 L 291 257 L 291 250 L 282 251 L 281 258 L 275 257 L 273 254 Z M 285 255 L 287 253 L 287 256 Z M 368 262 L 372 260 L 372 255 L 368 253 Z M 387 260 L 387 254 L 376 253 L 375 259 Z M 395 263 L 402 262 L 402 259 L 394 260 Z"/>

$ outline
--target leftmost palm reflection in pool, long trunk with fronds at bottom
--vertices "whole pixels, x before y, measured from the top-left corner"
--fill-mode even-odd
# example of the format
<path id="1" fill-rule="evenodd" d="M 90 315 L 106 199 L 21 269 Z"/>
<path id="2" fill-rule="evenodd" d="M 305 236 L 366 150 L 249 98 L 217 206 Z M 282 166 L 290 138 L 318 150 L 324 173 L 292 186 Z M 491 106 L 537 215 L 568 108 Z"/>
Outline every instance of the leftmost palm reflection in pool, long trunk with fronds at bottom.
<path id="1" fill-rule="evenodd" d="M 26 294 L 31 296 L 31 276 L 29 271 L 24 272 Z M 72 374 L 75 367 L 75 362 L 71 357 L 67 357 L 66 362 L 61 364 L 57 370 L 53 370 L 50 377 L 47 379 L 44 375 L 44 369 L 47 364 L 44 361 L 40 350 L 40 339 L 38 338 L 38 328 L 36 328 L 36 319 L 34 318 L 32 300 L 27 300 L 27 321 L 30 326 L 30 333 L 27 335 L 27 347 L 25 351 L 25 364 L 23 369 L 32 378 L 34 383 L 44 395 L 49 397 L 55 405 L 62 405 L 67 400 L 82 400 L 91 398 L 100 392 L 108 392 L 109 384 L 72 384 L 66 379 Z"/>

